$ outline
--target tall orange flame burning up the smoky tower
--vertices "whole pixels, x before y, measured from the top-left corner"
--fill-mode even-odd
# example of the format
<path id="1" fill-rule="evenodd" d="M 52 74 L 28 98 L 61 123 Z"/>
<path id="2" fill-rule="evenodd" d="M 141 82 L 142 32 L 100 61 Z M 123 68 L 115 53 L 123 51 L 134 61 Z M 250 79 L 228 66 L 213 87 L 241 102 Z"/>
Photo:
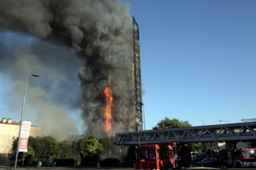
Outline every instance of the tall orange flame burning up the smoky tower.
<path id="1" fill-rule="evenodd" d="M 105 93 L 105 96 L 106 96 L 106 101 L 107 101 L 107 105 L 105 107 L 105 111 L 104 111 L 104 114 L 105 114 L 105 117 L 106 117 L 106 132 L 109 133 L 111 131 L 111 122 L 110 120 L 112 119 L 112 116 L 111 116 L 111 104 L 112 104 L 112 100 L 113 100 L 113 97 L 112 97 L 112 90 L 110 90 L 110 87 L 106 86 L 105 89 L 104 89 L 104 93 Z"/>

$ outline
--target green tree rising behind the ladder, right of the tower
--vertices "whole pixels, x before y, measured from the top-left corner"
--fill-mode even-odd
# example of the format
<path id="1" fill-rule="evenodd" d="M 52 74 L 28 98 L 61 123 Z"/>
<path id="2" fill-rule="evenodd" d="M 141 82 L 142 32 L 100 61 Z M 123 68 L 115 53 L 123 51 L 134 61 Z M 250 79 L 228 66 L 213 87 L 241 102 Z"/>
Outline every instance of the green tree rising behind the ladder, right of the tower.
<path id="1" fill-rule="evenodd" d="M 192 125 L 188 123 L 188 121 L 181 121 L 176 118 L 172 120 L 168 117 L 164 117 L 163 120 L 159 121 L 156 126 L 153 127 L 154 130 L 156 129 L 172 129 L 172 128 L 186 128 L 191 127 Z M 190 152 L 198 152 L 202 150 L 202 145 L 200 143 L 188 143 L 188 148 Z M 174 149 L 174 153 L 176 153 L 176 149 Z"/>

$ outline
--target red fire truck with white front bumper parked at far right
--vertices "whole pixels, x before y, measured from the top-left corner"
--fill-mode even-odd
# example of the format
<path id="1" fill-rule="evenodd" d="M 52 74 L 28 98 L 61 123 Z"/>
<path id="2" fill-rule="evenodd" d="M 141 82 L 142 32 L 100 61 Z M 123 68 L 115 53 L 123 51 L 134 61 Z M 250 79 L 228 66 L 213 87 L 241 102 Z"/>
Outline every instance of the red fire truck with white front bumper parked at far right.
<path id="1" fill-rule="evenodd" d="M 229 167 L 252 167 L 256 166 L 254 149 L 242 148 L 235 151 L 220 150 L 220 164 Z"/>

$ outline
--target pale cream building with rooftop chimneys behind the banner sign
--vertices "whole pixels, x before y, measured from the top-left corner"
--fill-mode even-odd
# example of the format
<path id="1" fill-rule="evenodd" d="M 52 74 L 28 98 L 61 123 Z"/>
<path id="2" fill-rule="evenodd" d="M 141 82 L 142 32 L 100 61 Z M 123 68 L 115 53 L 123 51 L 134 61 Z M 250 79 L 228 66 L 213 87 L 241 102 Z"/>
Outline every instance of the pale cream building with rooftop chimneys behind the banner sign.
<path id="1" fill-rule="evenodd" d="M 18 138 L 20 123 L 12 122 L 12 119 L 3 118 L 0 122 L 0 156 L 6 157 L 11 153 L 12 142 Z M 41 136 L 41 128 L 38 126 L 30 126 L 29 136 Z"/>

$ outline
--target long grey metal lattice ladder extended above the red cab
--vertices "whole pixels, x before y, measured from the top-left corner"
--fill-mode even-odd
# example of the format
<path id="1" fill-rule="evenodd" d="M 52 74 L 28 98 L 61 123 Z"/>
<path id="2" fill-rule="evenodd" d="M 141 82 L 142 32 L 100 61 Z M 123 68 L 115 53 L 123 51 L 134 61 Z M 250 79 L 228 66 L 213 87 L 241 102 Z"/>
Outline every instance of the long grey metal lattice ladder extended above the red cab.
<path id="1" fill-rule="evenodd" d="M 189 142 L 249 142 L 256 140 L 256 122 L 143 130 L 116 134 L 114 145 Z"/>

